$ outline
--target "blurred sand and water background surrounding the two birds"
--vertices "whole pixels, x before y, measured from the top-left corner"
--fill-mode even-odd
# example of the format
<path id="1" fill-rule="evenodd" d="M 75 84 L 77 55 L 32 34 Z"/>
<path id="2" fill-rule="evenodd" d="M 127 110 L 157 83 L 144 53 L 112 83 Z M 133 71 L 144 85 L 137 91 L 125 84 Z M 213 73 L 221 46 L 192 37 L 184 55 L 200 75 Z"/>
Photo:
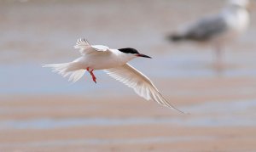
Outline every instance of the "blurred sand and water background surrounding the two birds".
<path id="1" fill-rule="evenodd" d="M 166 41 L 223 0 L 0 1 L 0 151 L 256 150 L 256 22 L 213 67 L 211 48 Z M 180 115 L 96 71 L 74 84 L 44 64 L 79 57 L 78 38 L 137 48 L 131 65 Z"/>

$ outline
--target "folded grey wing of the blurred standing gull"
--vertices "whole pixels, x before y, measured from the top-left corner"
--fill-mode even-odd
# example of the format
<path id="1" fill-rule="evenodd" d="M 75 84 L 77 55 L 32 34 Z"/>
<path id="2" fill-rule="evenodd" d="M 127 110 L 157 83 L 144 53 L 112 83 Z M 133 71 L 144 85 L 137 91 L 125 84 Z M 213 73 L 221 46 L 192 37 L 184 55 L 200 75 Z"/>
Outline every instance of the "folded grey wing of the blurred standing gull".
<path id="1" fill-rule="evenodd" d="M 184 33 L 184 37 L 197 41 L 205 41 L 209 38 L 217 36 L 227 29 L 228 25 L 223 17 L 223 14 L 219 14 L 217 16 L 212 16 L 197 21 Z"/>

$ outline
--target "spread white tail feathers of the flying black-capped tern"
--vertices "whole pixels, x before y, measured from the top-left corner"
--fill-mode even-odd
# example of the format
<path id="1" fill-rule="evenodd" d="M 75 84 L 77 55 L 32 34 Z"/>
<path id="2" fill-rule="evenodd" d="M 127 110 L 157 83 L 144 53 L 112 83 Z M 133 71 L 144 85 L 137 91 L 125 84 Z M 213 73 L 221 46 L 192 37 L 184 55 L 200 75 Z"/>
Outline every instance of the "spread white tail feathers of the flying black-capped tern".
<path id="1" fill-rule="evenodd" d="M 68 82 L 77 82 L 84 75 L 85 70 L 79 69 L 76 63 L 64 63 L 64 64 L 54 64 L 54 65 L 42 65 L 42 67 L 51 68 L 53 72 L 60 74 L 63 77 L 68 78 Z"/>

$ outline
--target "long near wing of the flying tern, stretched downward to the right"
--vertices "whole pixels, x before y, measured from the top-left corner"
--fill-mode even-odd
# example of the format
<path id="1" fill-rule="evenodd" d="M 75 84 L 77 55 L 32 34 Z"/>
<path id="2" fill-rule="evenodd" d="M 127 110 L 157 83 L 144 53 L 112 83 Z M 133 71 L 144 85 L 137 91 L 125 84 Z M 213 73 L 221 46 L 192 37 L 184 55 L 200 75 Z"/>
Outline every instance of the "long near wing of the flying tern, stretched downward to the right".
<path id="1" fill-rule="evenodd" d="M 158 104 L 162 104 L 166 107 L 177 110 L 177 108 L 164 99 L 164 97 L 160 94 L 158 89 L 154 87 L 154 84 L 148 79 L 147 76 L 144 76 L 143 73 L 136 70 L 131 65 L 125 64 L 123 66 L 105 71 L 109 76 L 112 76 L 119 82 L 123 82 L 128 87 L 133 88 L 134 91 L 144 99 L 153 99 Z M 181 110 L 178 111 L 183 113 Z"/>

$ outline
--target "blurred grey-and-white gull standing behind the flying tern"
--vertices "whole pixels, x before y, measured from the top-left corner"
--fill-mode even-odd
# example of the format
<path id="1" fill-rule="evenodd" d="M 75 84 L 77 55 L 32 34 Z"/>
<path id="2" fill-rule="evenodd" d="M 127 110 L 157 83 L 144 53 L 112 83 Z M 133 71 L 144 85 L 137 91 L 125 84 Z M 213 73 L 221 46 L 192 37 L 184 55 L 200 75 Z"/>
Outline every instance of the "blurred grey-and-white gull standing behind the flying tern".
<path id="1" fill-rule="evenodd" d="M 224 45 L 247 30 L 250 21 L 248 6 L 249 0 L 230 0 L 220 14 L 198 20 L 185 31 L 168 38 L 173 42 L 191 40 L 209 44 L 215 48 L 217 63 L 221 65 Z"/>

